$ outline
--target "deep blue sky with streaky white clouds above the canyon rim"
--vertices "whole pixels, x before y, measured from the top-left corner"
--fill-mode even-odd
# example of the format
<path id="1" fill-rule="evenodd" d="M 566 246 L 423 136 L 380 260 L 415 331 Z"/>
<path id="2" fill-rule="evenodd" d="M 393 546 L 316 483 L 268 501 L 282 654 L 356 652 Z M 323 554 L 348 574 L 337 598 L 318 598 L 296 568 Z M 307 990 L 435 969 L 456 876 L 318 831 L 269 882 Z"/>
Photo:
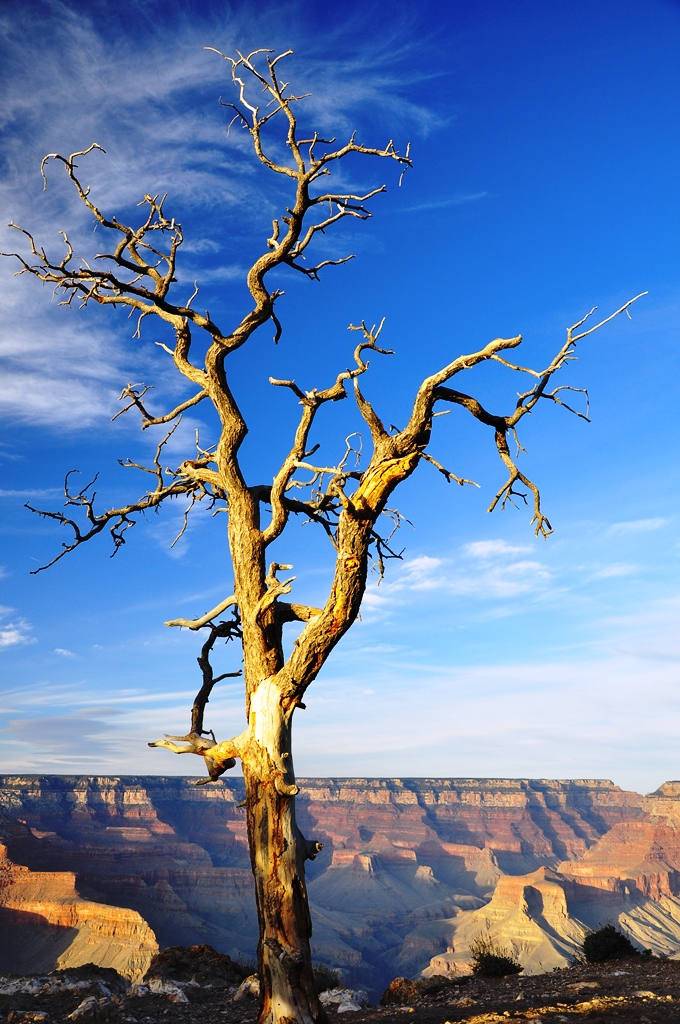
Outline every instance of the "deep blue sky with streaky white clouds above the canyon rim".
<path id="1" fill-rule="evenodd" d="M 97 141 L 81 164 L 99 204 L 132 215 L 169 194 L 186 239 L 179 288 L 196 279 L 228 328 L 247 308 L 244 271 L 286 195 L 267 180 L 218 103 L 223 51 L 292 47 L 289 75 L 311 91 L 303 121 L 369 144 L 411 140 L 414 170 L 343 170 L 352 187 L 386 181 L 374 217 L 329 234 L 325 258 L 356 253 L 321 284 L 291 280 L 279 314 L 232 359 L 251 425 L 245 463 L 269 479 L 294 428 L 291 396 L 268 376 L 326 386 L 347 365 L 349 323 L 386 316 L 396 352 L 374 359 L 366 390 L 401 424 L 420 380 L 498 336 L 524 336 L 544 366 L 593 305 L 603 314 L 648 290 L 579 346 L 564 383 L 588 387 L 592 422 L 539 409 L 523 421 L 521 466 L 555 527 L 486 515 L 504 481 L 491 432 L 461 410 L 436 421 L 432 454 L 480 488 L 427 465 L 398 507 L 403 561 L 372 583 L 364 614 L 296 720 L 300 775 L 608 777 L 648 791 L 680 776 L 680 544 L 675 417 L 680 332 L 680 4 L 630 0 L 464 3 L 7 2 L 0 9 L 3 223 L 79 251 L 98 237 L 53 166 L 40 159 Z M 0 246 L 16 232 L 3 227 Z M 55 251 L 53 249 L 52 251 Z M 141 341 L 108 311 L 58 308 L 2 261 L 0 303 L 0 771 L 201 773 L 150 751 L 184 731 L 198 688 L 195 635 L 163 622 L 230 592 L 224 526 L 199 513 L 170 548 L 173 508 L 140 521 L 111 559 L 99 538 L 47 572 L 62 536 L 23 507 L 59 507 L 63 474 L 99 471 L 103 505 L 136 497 L 117 459 L 148 458 L 133 418 L 111 423 L 128 381 L 154 384 L 156 409 L 184 394 L 146 326 Z M 296 275 L 297 278 L 297 275 Z M 562 382 L 562 380 L 560 382 Z M 465 381 L 495 411 L 519 386 L 496 366 Z M 359 424 L 349 401 L 315 437 L 329 460 Z M 203 407 L 169 460 L 210 440 Z M 212 432 L 212 433 L 211 433 Z M 88 477 L 89 478 L 89 477 Z M 294 527 L 277 557 L 295 597 L 325 599 L 331 550 Z M 220 648 L 221 671 L 238 668 Z M 239 681 L 220 685 L 209 724 L 241 731 Z"/>

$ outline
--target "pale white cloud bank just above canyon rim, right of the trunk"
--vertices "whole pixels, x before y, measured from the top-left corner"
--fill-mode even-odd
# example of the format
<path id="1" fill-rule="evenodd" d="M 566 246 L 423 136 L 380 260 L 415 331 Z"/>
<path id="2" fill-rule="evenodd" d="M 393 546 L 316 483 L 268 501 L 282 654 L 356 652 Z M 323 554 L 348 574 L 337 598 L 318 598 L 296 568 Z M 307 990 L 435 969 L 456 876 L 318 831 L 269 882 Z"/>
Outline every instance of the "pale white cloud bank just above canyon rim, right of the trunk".
<path id="1" fill-rule="evenodd" d="M 338 682 L 320 683 L 320 697 L 337 694 Z M 613 778 L 645 792 L 677 774 L 674 665 L 612 655 L 423 673 L 391 663 L 375 679 L 379 718 L 349 686 L 351 716 L 343 701 L 307 693 L 310 717 L 296 722 L 300 776 Z"/>

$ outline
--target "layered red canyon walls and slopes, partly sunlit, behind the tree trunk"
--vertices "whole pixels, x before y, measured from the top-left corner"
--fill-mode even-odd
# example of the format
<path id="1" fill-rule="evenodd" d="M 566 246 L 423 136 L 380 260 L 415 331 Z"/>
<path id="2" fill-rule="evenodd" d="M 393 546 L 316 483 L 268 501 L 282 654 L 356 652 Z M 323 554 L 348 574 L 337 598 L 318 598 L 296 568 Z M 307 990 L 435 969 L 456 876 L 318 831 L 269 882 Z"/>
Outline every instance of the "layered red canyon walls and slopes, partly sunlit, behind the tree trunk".
<path id="1" fill-rule="evenodd" d="M 253 957 L 243 782 L 193 781 L 0 777 L 0 914 L 41 970 L 98 957 L 133 974 L 156 941 Z M 314 956 L 374 991 L 395 974 L 464 969 L 480 932 L 528 972 L 566 963 L 604 921 L 680 949 L 680 783 L 648 797 L 606 780 L 300 785 L 300 826 L 325 844 L 308 864 Z M 0 951 L 14 970 L 19 946 Z"/>

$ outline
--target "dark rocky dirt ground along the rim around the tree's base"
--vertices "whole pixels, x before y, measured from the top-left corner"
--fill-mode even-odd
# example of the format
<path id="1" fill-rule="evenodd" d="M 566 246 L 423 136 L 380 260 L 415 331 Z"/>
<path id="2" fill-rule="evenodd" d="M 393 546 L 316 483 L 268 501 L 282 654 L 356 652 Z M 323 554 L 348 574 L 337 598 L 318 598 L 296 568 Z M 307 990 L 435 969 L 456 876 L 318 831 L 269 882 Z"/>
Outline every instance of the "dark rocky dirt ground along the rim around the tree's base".
<path id="1" fill-rule="evenodd" d="M 86 992 L 0 995 L 0 1021 L 56 1024 Z M 102 1008 L 110 1024 L 255 1024 L 257 1005 L 233 1002 L 224 989 L 187 988 L 188 1004 L 167 996 L 125 998 Z M 35 1015 L 35 1016 L 34 1016 Z M 43 1015 L 45 1015 L 43 1017 Z M 522 978 L 464 978 L 410 1007 L 370 1007 L 338 1015 L 338 1024 L 680 1024 L 680 962 L 635 957 Z"/>

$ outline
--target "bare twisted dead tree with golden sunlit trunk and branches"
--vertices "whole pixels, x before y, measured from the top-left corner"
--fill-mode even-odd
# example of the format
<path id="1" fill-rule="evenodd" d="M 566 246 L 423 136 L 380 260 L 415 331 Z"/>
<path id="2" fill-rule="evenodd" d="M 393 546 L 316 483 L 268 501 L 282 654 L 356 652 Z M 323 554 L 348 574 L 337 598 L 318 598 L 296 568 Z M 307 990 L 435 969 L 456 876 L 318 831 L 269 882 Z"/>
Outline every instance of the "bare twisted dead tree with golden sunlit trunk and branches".
<path id="1" fill-rule="evenodd" d="M 227 511 L 233 593 L 198 618 L 174 618 L 166 623 L 170 627 L 209 631 L 199 658 L 203 685 L 194 706 L 190 730 L 184 736 L 166 737 L 150 745 L 202 756 L 208 768 L 206 782 L 232 767 L 235 759 L 241 760 L 260 927 L 260 1021 L 312 1024 L 324 1019 L 324 1011 L 313 987 L 304 861 L 315 856 L 320 844 L 305 839 L 295 820 L 294 798 L 298 787 L 291 751 L 295 709 L 304 708 L 305 690 L 355 621 L 370 563 L 373 561 L 382 573 L 385 559 L 397 554 L 390 537 L 392 527 L 398 525 L 399 515 L 388 506 L 395 487 L 423 460 L 435 466 L 448 481 L 455 480 L 461 485 L 471 482 L 450 472 L 427 451 L 433 417 L 437 415 L 435 407 L 460 406 L 492 429 L 507 479 L 488 510 L 498 505 L 504 507 L 516 498 L 528 500 L 535 531 L 547 537 L 552 527 L 542 511 L 539 488 L 518 468 L 508 441 L 516 440 L 520 421 L 545 400 L 587 418 L 587 407 L 580 412 L 565 400 L 569 392 L 579 389 L 567 384 L 555 385 L 553 377 L 576 358 L 579 341 L 627 311 L 635 300 L 631 299 L 600 323 L 586 327 L 591 310 L 567 330 L 564 344 L 545 369 L 533 370 L 508 360 L 509 350 L 518 347 L 521 336 L 497 338 L 478 351 L 456 356 L 417 388 L 411 417 L 401 430 L 386 429 L 360 387 L 360 378 L 369 370 L 369 355 L 391 354 L 379 345 L 382 324 L 352 325 L 350 330 L 356 332 L 358 341 L 353 351 L 353 367 L 341 370 L 329 386 L 304 390 L 293 380 L 270 378 L 274 387 L 288 388 L 293 400 L 299 403 L 299 422 L 290 451 L 273 480 L 247 482 L 239 461 L 247 426 L 229 386 L 227 366 L 229 355 L 268 321 L 274 326 L 274 341 L 281 337 L 275 311 L 281 293 L 269 290 L 267 275 L 274 268 L 290 267 L 315 281 L 322 268 L 352 258 L 324 259 L 315 265 L 305 261 L 320 232 L 328 231 L 347 217 L 368 219 L 371 213 L 367 204 L 384 190 L 382 185 L 365 195 L 324 191 L 322 183 L 338 164 L 350 156 L 372 157 L 394 162 L 402 175 L 411 167 L 411 159 L 408 146 L 401 154 L 391 140 L 383 148 L 374 148 L 357 142 L 355 134 L 339 145 L 335 139 L 324 139 L 317 132 L 299 137 L 295 111 L 302 97 L 295 96 L 279 77 L 280 61 L 288 54 L 272 56 L 271 51 L 256 50 L 248 56 L 220 55 L 227 62 L 237 92 L 235 102 L 228 104 L 233 111 L 232 123 L 250 132 L 257 160 L 290 184 L 290 206 L 273 221 L 266 248 L 247 274 L 252 308 L 240 324 L 224 331 L 208 312 L 195 308 L 198 288 L 184 302 L 175 298 L 177 289 L 173 286 L 183 238 L 181 226 L 166 214 L 165 200 L 158 196 L 144 196 L 140 204 L 144 213 L 136 227 L 107 216 L 95 206 L 89 188 L 82 184 L 76 160 L 100 148 L 96 143 L 68 158 L 58 154 L 45 157 L 43 175 L 50 160 L 62 164 L 78 196 L 96 223 L 105 229 L 104 237 L 112 241 L 108 250 L 86 261 L 76 256 L 65 233 L 65 252 L 60 258 L 52 259 L 29 231 L 18 228 L 28 241 L 30 254 L 10 254 L 19 261 L 17 272 L 33 274 L 53 285 L 67 305 L 77 300 L 81 305 L 96 302 L 127 308 L 138 317 L 136 337 L 145 316 L 159 316 L 170 325 L 175 339 L 173 348 L 163 347 L 195 390 L 175 409 L 155 415 L 147 408 L 145 386 L 128 384 L 123 389 L 121 398 L 126 404 L 122 412 L 137 410 L 142 429 L 170 427 L 158 445 L 153 466 L 129 460 L 123 463 L 153 477 L 153 487 L 139 501 L 98 512 L 92 492 L 94 481 L 74 489 L 68 476 L 66 512 L 32 511 L 73 531 L 71 541 L 62 545 L 53 561 L 104 529 L 110 531 L 118 550 L 125 543 L 127 530 L 134 525 L 135 516 L 178 496 L 188 500 L 189 509 L 196 502 L 207 501 Z M 260 108 L 251 99 L 252 87 L 264 93 L 266 106 Z M 274 118 L 283 122 L 285 139 L 280 141 L 285 140 L 285 147 L 265 147 L 263 129 Z M 286 158 L 271 155 L 279 152 L 285 152 Z M 203 333 L 208 343 L 204 358 L 193 352 L 197 332 Z M 491 413 L 475 397 L 453 386 L 455 378 L 488 360 L 528 378 L 527 390 L 518 395 L 508 414 Z M 350 466 L 351 441 L 337 465 L 318 464 L 314 460 L 316 447 L 310 446 L 310 433 L 320 410 L 329 402 L 344 400 L 350 391 L 372 441 L 371 458 L 360 470 Z M 210 450 L 202 450 L 197 441 L 197 452 L 170 470 L 163 463 L 164 445 L 181 414 L 203 401 L 211 402 L 217 413 L 219 440 Z M 281 579 L 281 574 L 291 566 L 266 564 L 267 548 L 282 537 L 292 514 L 303 515 L 321 526 L 335 552 L 333 580 L 323 608 L 285 601 L 295 578 Z M 382 529 L 382 522 L 389 524 L 387 529 Z M 232 617 L 224 620 L 221 616 L 229 608 Z M 291 622 L 303 623 L 304 628 L 286 657 L 283 630 Z M 209 655 L 219 637 L 239 640 L 243 647 L 247 724 L 241 735 L 217 742 L 214 735 L 205 731 L 203 718 L 210 691 L 218 681 L 213 678 Z"/>

